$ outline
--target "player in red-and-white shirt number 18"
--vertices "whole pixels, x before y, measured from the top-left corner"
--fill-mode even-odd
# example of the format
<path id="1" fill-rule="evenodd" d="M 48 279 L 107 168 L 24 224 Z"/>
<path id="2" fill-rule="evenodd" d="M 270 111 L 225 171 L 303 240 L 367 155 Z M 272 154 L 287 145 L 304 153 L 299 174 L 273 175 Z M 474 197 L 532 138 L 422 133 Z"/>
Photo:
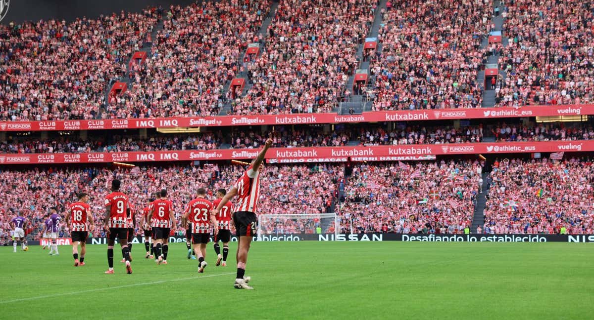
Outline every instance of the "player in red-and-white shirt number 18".
<path id="1" fill-rule="evenodd" d="M 89 226 L 93 226 L 93 216 L 91 207 L 87 203 L 89 195 L 86 193 L 78 194 L 78 201 L 70 204 L 66 212 L 70 216 L 68 219 L 70 227 L 70 237 L 72 240 L 72 257 L 74 266 L 84 265 L 84 255 L 87 253 L 87 237 L 89 236 Z M 78 245 L 80 244 L 80 260 L 78 260 Z"/>

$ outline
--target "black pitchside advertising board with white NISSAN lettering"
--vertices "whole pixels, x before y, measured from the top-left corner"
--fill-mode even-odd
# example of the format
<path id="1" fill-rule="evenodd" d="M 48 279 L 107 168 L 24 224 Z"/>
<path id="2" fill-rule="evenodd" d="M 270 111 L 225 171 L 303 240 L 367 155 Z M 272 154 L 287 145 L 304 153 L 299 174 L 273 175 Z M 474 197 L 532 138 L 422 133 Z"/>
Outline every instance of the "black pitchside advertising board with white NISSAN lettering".
<path id="1" fill-rule="evenodd" d="M 170 236 L 169 242 L 184 242 L 184 236 Z M 231 241 L 237 241 L 232 236 Z M 590 243 L 594 242 L 594 235 L 495 235 L 476 234 L 469 235 L 435 235 L 419 233 L 346 233 L 346 234 L 277 234 L 254 236 L 254 241 L 404 241 L 404 242 L 569 242 Z M 59 238 L 58 245 L 70 245 L 69 238 Z M 143 243 L 144 238 L 136 236 L 132 244 Z M 87 244 L 106 245 L 107 238 L 89 238 Z M 38 245 L 39 241 L 29 241 L 30 245 Z M 42 245 L 47 241 L 42 241 Z"/>

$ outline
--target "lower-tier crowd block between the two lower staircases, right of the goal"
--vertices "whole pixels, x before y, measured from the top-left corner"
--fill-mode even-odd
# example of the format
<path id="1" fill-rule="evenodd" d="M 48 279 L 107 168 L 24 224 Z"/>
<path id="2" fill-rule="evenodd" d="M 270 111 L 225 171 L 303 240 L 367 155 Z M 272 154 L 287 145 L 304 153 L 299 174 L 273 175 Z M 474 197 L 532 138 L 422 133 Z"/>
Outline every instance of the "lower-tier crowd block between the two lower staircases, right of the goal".
<path id="1" fill-rule="evenodd" d="M 476 161 L 357 165 L 340 208 L 342 232 L 462 233 L 481 172 Z"/>

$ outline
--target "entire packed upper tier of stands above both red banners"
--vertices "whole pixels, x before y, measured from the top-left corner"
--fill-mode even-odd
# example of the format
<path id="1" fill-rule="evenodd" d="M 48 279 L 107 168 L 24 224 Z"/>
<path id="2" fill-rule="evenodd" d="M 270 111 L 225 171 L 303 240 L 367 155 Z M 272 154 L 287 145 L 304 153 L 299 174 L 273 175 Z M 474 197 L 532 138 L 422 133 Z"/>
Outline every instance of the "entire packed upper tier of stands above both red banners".
<path id="1" fill-rule="evenodd" d="M 380 3 L 205 1 L 72 23 L 0 25 L 0 120 L 336 115 L 352 101 L 371 101 L 357 113 L 469 110 L 481 107 L 480 74 L 492 52 L 501 53 L 496 107 L 592 103 L 587 2 L 505 4 L 509 41 L 493 51 L 484 45 L 491 1 Z M 369 36 L 377 47 L 364 50 Z M 245 55 L 251 44 L 258 50 Z M 137 52 L 146 60 L 131 59 Z M 359 68 L 368 79 L 353 84 Z M 236 77 L 245 87 L 230 87 Z M 116 81 L 122 92 L 112 91 Z M 355 118 L 344 121 L 361 121 Z M 194 124 L 219 120 L 208 121 Z"/>

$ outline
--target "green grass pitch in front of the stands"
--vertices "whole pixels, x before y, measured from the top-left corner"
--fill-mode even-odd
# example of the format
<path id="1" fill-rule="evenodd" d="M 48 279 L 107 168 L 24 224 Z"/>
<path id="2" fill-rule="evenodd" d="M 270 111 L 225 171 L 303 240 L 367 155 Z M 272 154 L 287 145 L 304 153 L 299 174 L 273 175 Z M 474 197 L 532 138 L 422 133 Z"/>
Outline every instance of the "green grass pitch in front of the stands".
<path id="1" fill-rule="evenodd" d="M 105 245 L 77 268 L 68 246 L 0 248 L 0 319 L 594 318 L 590 244 L 256 242 L 251 291 L 233 289 L 235 244 L 226 268 L 208 244 L 204 274 L 170 247 L 155 265 L 135 245 L 131 275 L 103 274 Z"/>

